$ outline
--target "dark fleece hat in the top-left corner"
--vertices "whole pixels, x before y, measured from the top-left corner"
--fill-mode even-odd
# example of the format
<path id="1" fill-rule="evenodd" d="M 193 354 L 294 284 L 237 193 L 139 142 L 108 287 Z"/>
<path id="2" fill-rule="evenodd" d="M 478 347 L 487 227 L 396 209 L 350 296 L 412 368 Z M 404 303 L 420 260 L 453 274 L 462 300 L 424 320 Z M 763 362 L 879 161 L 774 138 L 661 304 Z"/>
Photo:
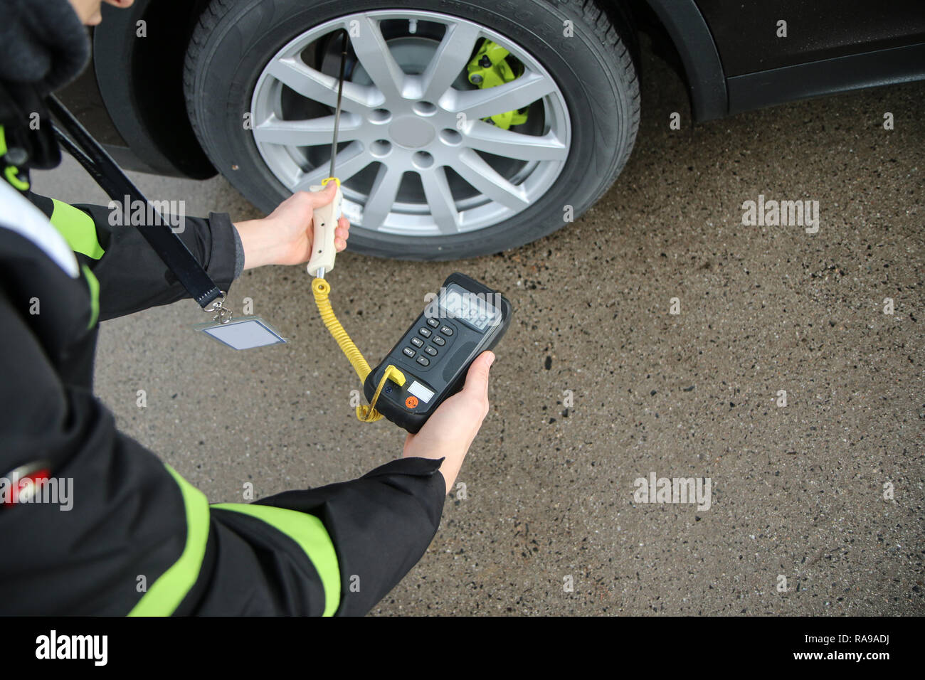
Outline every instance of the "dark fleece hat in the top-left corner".
<path id="1" fill-rule="evenodd" d="M 68 0 L 0 0 L 0 80 L 52 93 L 80 75 L 90 40 Z"/>

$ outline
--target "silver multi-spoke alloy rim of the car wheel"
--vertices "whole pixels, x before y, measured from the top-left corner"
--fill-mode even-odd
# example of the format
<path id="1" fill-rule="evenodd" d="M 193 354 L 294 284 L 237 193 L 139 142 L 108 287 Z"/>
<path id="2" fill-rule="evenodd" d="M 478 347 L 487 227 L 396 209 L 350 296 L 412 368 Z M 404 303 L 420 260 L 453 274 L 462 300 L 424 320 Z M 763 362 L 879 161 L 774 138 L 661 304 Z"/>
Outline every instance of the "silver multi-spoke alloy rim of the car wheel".
<path id="1" fill-rule="evenodd" d="M 400 22 L 407 22 L 408 35 L 395 37 Z M 442 35 L 434 37 L 440 26 Z M 418 33 L 419 27 L 432 34 Z M 485 229 L 536 203 L 558 179 L 570 119 L 561 90 L 536 58 L 467 19 L 386 10 L 303 31 L 258 77 L 253 140 L 287 190 L 307 191 L 327 177 L 337 74 L 310 66 L 304 55 L 339 30 L 348 31 L 357 56 L 344 82 L 336 170 L 343 213 L 356 228 L 415 237 Z M 506 48 L 523 74 L 471 89 L 465 68 L 482 39 Z M 482 119 L 527 105 L 529 132 Z M 306 117 L 303 108 L 314 113 Z"/>

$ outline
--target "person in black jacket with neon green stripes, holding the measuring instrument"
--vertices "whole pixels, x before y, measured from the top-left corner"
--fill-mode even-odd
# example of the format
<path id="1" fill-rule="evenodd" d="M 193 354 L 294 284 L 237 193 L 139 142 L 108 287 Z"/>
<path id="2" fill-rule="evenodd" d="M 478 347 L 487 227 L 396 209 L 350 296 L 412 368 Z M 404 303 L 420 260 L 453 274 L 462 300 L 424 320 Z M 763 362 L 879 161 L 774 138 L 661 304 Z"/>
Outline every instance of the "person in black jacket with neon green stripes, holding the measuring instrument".
<path id="1" fill-rule="evenodd" d="M 368 612 L 437 531 L 487 414 L 494 355 L 401 458 L 250 504 L 210 505 L 119 432 L 92 392 L 98 324 L 186 292 L 139 229 L 111 226 L 105 207 L 38 196 L 29 178 L 60 158 L 43 97 L 85 65 L 80 24 L 98 23 L 100 2 L 0 5 L 0 614 Z M 331 198 L 300 192 L 238 224 L 190 217 L 178 233 L 228 290 L 242 269 L 308 259 L 313 208 Z M 341 250 L 345 219 L 337 235 Z"/>

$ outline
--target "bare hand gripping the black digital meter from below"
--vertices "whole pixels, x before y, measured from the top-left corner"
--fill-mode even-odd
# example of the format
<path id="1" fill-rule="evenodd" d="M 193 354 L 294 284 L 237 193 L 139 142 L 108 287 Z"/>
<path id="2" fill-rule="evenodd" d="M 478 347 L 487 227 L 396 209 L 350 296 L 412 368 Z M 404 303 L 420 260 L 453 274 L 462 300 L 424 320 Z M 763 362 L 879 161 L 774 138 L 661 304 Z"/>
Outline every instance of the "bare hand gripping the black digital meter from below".
<path id="1" fill-rule="evenodd" d="M 462 391 L 441 403 L 421 431 L 405 439 L 403 458 L 446 458 L 440 472 L 447 483 L 447 493 L 488 414 L 488 368 L 494 361 L 493 352 L 479 354 L 469 366 Z"/>

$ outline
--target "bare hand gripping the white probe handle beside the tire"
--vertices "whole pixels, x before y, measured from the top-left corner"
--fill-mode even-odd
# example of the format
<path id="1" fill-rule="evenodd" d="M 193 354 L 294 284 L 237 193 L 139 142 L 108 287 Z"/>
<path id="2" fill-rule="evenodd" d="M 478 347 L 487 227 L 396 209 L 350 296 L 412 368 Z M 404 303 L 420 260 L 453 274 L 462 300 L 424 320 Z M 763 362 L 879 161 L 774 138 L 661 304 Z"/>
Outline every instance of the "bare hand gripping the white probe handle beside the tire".
<path id="1" fill-rule="evenodd" d="M 315 208 L 334 200 L 337 183 L 327 182 L 320 192 L 297 192 L 277 205 L 263 219 L 236 222 L 235 228 L 244 247 L 244 268 L 263 265 L 301 265 L 312 254 Z M 338 252 L 347 247 L 350 222 L 340 217 L 334 229 L 334 247 Z"/>

